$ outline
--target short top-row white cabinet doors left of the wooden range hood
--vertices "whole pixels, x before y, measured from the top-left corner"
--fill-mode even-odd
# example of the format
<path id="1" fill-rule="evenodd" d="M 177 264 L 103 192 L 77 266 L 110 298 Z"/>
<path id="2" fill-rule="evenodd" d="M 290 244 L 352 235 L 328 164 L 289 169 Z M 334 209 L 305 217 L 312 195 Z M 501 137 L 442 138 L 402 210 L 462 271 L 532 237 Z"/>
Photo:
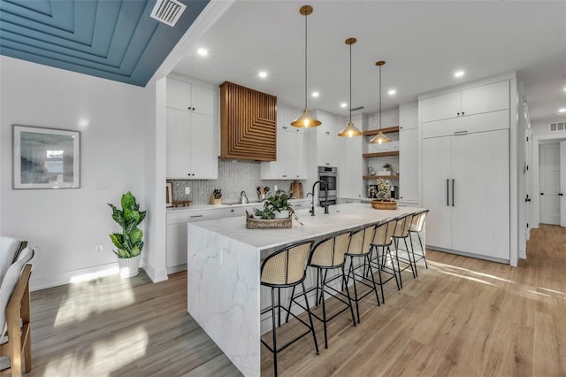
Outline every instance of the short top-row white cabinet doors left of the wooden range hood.
<path id="1" fill-rule="evenodd" d="M 167 107 L 214 115 L 216 92 L 185 81 L 167 78 Z"/>

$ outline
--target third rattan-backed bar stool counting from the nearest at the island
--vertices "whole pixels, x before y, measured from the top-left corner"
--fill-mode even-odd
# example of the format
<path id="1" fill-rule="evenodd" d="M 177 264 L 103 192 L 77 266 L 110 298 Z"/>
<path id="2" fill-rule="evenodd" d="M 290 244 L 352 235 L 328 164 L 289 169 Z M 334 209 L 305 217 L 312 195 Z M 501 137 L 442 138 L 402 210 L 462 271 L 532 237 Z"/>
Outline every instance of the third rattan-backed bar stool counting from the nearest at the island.
<path id="1" fill-rule="evenodd" d="M 348 281 L 351 278 L 353 280 L 354 285 L 354 297 L 352 301 L 356 302 L 356 314 L 357 314 L 357 323 L 360 323 L 360 308 L 359 302 L 360 300 L 368 295 L 371 295 L 371 291 L 375 292 L 375 297 L 378 301 L 379 306 L 379 295 L 378 295 L 378 288 L 376 286 L 375 279 L 373 278 L 373 269 L 371 268 L 371 261 L 370 261 L 370 254 L 371 254 L 371 241 L 373 240 L 373 232 L 375 231 L 375 224 L 371 224 L 370 226 L 363 227 L 362 229 L 356 231 L 350 236 L 350 243 L 348 245 L 348 252 L 346 256 L 350 259 L 350 264 L 348 267 L 348 277 L 347 277 L 347 286 Z M 355 259 L 363 258 L 362 263 L 359 265 L 355 265 Z M 366 277 L 365 268 L 369 269 L 369 276 L 371 279 Z M 359 273 L 358 270 L 363 269 L 362 273 Z M 357 293 L 357 285 L 358 283 L 363 284 L 364 286 L 370 288 L 367 292 L 365 292 L 362 296 L 358 296 Z M 379 281 L 381 283 L 381 281 Z"/>

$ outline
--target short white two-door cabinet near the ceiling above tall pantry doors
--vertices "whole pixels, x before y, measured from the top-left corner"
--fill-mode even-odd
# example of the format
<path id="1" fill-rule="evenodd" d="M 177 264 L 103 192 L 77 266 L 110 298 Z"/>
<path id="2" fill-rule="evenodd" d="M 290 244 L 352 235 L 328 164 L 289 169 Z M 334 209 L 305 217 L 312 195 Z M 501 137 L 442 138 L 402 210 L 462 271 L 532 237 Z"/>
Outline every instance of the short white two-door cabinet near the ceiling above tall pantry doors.
<path id="1" fill-rule="evenodd" d="M 509 81 L 466 88 L 420 101 L 422 122 L 509 109 Z"/>

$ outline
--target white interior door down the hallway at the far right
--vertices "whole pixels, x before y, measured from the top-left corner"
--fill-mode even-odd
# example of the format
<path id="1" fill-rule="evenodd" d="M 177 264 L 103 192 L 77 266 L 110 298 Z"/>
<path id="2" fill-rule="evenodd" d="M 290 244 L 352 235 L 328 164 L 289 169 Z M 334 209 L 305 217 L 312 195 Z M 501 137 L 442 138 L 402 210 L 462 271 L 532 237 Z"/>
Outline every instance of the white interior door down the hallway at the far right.
<path id="1" fill-rule="evenodd" d="M 539 211 L 543 224 L 560 224 L 560 144 L 539 147 Z"/>

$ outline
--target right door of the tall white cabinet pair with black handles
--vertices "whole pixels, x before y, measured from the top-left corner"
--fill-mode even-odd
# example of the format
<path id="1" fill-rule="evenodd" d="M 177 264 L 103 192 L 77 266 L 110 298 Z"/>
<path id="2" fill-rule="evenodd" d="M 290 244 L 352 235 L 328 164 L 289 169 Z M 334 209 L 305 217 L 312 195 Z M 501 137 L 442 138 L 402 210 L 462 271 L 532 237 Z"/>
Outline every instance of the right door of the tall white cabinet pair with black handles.
<path id="1" fill-rule="evenodd" d="M 452 249 L 509 260 L 509 130 L 453 136 L 452 177 Z"/>

